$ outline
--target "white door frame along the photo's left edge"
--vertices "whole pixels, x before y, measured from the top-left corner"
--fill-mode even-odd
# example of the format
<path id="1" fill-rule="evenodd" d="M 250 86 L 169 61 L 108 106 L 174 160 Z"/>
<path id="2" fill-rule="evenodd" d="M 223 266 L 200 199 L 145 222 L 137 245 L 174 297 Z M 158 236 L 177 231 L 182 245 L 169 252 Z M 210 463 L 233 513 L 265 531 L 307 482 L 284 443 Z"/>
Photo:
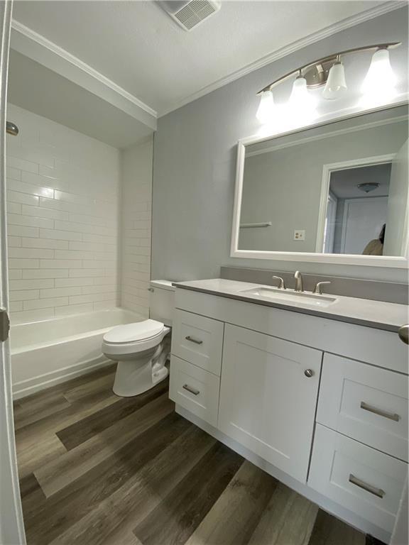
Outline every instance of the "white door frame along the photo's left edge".
<path id="1" fill-rule="evenodd" d="M 0 307 L 9 310 L 6 226 L 6 101 L 13 0 L 0 2 Z M 13 424 L 9 338 L 0 341 L 0 543 L 25 545 Z"/>

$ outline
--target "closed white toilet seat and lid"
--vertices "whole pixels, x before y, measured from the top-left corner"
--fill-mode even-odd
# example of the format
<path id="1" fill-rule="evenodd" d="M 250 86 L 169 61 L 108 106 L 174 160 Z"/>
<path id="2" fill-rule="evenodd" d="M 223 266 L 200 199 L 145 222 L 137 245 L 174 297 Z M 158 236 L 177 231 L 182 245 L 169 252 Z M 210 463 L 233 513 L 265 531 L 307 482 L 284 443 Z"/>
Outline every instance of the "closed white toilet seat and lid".
<path id="1" fill-rule="evenodd" d="M 102 340 L 102 352 L 107 356 L 121 356 L 143 352 L 158 346 L 170 328 L 156 320 L 138 321 L 116 326 Z"/>

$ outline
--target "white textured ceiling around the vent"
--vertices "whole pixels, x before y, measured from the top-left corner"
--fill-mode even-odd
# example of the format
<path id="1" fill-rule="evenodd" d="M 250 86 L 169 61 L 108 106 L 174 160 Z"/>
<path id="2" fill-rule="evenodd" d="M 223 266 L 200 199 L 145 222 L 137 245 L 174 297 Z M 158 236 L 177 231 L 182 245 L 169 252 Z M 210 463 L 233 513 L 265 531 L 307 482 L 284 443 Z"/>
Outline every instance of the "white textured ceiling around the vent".
<path id="1" fill-rule="evenodd" d="M 13 18 L 163 115 L 383 1 L 223 1 L 186 32 L 153 1 L 16 1 Z"/>

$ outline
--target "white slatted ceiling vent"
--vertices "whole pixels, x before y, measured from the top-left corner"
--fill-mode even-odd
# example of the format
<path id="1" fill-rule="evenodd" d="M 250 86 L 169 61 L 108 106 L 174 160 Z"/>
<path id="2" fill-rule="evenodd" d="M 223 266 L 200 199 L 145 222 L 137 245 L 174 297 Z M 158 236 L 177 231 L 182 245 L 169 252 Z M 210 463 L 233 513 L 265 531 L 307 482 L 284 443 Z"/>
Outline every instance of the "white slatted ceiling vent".
<path id="1" fill-rule="evenodd" d="M 170 0 L 159 4 L 185 31 L 191 31 L 220 9 L 220 3 L 214 0 Z"/>

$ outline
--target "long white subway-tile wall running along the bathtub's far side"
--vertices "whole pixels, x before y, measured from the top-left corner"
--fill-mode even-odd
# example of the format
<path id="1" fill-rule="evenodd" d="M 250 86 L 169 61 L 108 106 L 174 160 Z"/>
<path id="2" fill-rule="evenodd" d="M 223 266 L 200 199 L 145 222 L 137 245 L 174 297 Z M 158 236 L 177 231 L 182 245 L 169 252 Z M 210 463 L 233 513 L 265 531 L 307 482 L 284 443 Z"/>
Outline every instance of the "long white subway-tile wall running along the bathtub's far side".
<path id="1" fill-rule="evenodd" d="M 116 307 L 119 150 L 8 105 L 11 320 Z"/>

